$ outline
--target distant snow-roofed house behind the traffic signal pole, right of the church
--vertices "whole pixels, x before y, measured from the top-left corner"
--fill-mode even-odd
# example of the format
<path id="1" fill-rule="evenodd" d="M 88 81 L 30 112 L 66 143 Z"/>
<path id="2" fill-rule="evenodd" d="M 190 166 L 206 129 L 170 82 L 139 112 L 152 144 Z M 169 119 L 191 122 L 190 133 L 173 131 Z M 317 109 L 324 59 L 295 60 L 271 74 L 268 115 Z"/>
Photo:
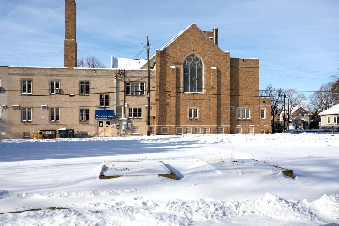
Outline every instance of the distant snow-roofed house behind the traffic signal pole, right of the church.
<path id="1" fill-rule="evenodd" d="M 294 105 L 290 107 L 290 117 L 288 118 L 288 108 L 286 108 L 286 129 L 309 129 L 310 122 L 313 114 L 303 105 Z M 279 115 L 280 123 L 284 124 L 284 111 L 283 109 Z M 288 126 L 287 126 L 288 125 Z"/>

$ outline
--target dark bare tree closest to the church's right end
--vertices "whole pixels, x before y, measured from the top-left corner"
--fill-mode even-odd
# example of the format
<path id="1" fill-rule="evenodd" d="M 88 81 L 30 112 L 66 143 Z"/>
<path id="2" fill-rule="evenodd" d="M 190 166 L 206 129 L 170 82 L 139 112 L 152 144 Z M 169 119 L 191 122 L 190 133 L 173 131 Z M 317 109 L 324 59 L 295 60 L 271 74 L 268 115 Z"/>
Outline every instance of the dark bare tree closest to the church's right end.
<path id="1" fill-rule="evenodd" d="M 278 108 L 281 108 L 283 105 L 283 101 L 281 97 L 283 97 L 284 91 L 282 88 L 273 87 L 273 84 L 265 87 L 265 90 L 260 91 L 261 97 L 271 97 L 271 115 L 273 116 L 273 120 L 271 121 L 271 126 L 275 124 L 279 117 L 277 116 Z"/>

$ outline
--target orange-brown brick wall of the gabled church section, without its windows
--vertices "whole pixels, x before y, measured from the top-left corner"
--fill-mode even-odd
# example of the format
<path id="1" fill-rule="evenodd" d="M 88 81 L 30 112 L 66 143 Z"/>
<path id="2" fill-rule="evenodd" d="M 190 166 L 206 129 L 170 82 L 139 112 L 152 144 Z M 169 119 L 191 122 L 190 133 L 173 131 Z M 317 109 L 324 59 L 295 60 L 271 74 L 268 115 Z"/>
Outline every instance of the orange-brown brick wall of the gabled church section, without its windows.
<path id="1" fill-rule="evenodd" d="M 206 35 L 207 34 L 207 35 Z M 259 99 L 259 60 L 230 58 L 212 40 L 213 32 L 202 32 L 192 24 L 163 49 L 156 51 L 156 131 L 168 134 L 196 132 L 270 133 L 270 99 Z M 209 37 L 208 35 L 213 35 Z M 194 54 L 203 61 L 203 91 L 183 92 L 183 62 Z M 230 107 L 235 107 L 231 110 Z M 190 118 L 188 110 L 198 109 Z M 249 117 L 238 118 L 237 111 L 249 111 Z M 200 128 L 200 132 L 199 132 Z M 250 129 L 248 129 L 250 128 Z M 239 132 L 239 129 L 238 129 Z"/>

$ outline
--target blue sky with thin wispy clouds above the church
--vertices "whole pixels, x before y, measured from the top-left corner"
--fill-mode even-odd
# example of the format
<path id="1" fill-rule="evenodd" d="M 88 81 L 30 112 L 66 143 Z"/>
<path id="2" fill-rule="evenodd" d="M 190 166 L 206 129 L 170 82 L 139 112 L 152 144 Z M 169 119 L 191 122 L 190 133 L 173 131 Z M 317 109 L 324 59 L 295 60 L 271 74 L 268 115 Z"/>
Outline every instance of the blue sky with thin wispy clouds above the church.
<path id="1" fill-rule="evenodd" d="M 0 65 L 63 67 L 63 0 L 0 0 Z M 182 29 L 218 27 L 231 57 L 259 58 L 260 89 L 316 91 L 339 67 L 339 1 L 76 0 L 77 57 L 146 59 Z M 144 43 L 144 44 L 141 44 Z M 304 92 L 306 96 L 312 92 Z"/>

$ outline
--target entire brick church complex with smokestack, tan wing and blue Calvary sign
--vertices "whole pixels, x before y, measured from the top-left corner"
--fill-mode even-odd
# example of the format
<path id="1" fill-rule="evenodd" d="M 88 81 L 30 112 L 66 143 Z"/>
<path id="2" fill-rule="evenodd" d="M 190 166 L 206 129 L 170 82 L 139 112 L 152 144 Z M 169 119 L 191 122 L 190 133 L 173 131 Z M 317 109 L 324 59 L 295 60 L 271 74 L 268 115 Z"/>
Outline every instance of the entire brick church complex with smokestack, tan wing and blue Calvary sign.
<path id="1" fill-rule="evenodd" d="M 76 68 L 75 1 L 65 0 L 65 15 L 64 68 L 0 66 L 0 139 L 60 128 L 75 137 L 146 135 L 145 60 Z M 191 24 L 156 50 L 150 67 L 151 134 L 271 133 L 259 59 L 231 58 L 217 28 Z"/>

